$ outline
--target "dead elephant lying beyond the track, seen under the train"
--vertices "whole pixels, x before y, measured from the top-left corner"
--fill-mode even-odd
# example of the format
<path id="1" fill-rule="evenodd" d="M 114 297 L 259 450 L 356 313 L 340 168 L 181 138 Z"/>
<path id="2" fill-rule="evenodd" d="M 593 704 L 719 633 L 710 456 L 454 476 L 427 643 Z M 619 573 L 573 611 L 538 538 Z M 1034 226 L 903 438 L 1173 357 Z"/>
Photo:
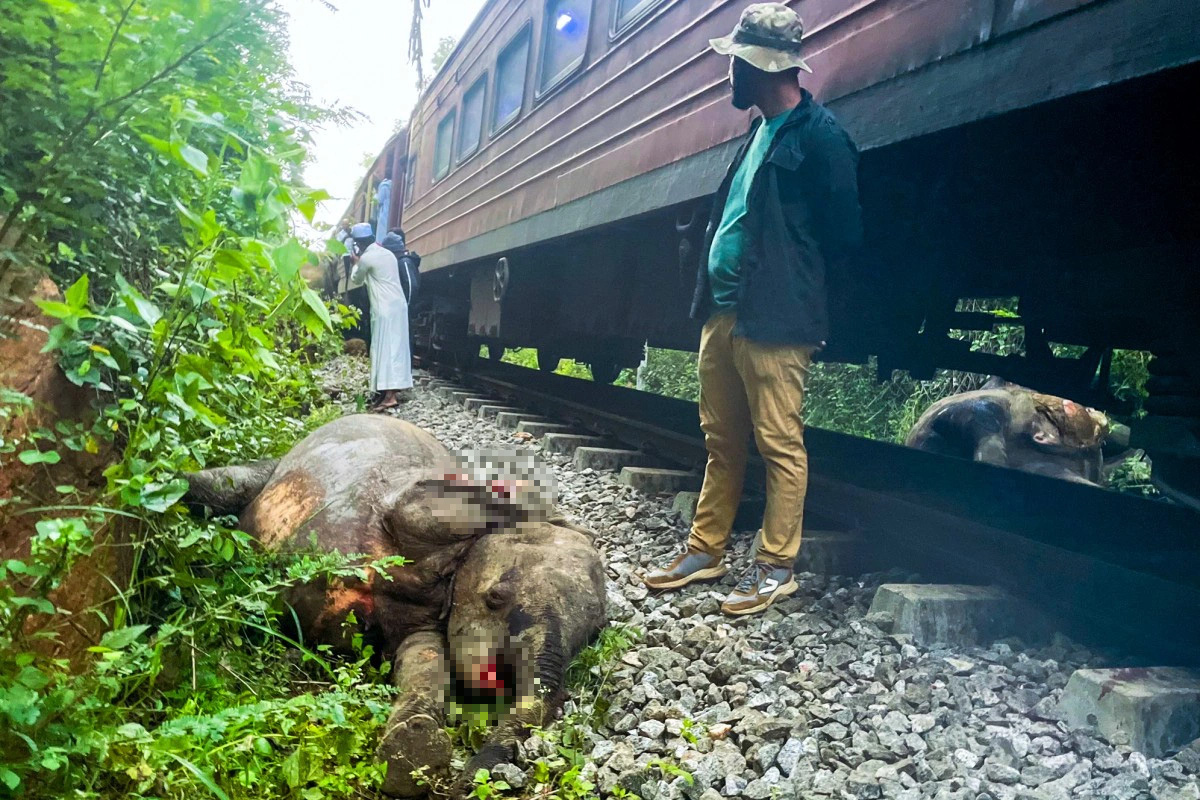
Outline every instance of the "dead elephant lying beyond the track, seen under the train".
<path id="1" fill-rule="evenodd" d="M 908 433 L 910 447 L 1103 486 L 1133 455 L 1128 428 L 1096 409 L 992 378 L 982 389 L 930 405 Z M 1105 459 L 1105 450 L 1116 449 Z"/>

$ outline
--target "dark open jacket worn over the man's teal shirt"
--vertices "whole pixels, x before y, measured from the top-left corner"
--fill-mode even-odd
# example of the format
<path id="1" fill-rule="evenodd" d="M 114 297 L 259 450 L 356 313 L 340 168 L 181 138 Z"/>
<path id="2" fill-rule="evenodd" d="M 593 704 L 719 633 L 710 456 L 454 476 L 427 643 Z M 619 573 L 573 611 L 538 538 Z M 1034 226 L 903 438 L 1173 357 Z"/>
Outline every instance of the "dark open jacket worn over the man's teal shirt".
<path id="1" fill-rule="evenodd" d="M 730 185 L 754 133 L 721 181 L 701 251 L 694 319 L 713 308 L 708 254 Z M 776 344 L 820 345 L 829 337 L 827 272 L 842 270 L 862 246 L 858 150 L 823 106 L 804 98 L 775 134 L 750 184 L 734 333 Z"/>

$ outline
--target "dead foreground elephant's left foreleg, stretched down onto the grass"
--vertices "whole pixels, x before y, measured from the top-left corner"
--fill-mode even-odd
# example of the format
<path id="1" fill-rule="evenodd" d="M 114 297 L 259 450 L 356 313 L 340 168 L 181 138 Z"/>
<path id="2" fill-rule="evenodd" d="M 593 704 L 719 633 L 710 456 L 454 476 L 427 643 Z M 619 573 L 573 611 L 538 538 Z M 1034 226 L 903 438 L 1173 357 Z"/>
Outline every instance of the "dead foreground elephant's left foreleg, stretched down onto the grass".
<path id="1" fill-rule="evenodd" d="M 413 770 L 424 768 L 427 777 L 438 778 L 450 766 L 452 746 L 444 729 L 450 682 L 445 638 L 436 631 L 413 633 L 396 649 L 392 663 L 401 694 L 376 756 L 388 764 L 384 793 L 415 798 L 428 787 L 418 784 Z"/>

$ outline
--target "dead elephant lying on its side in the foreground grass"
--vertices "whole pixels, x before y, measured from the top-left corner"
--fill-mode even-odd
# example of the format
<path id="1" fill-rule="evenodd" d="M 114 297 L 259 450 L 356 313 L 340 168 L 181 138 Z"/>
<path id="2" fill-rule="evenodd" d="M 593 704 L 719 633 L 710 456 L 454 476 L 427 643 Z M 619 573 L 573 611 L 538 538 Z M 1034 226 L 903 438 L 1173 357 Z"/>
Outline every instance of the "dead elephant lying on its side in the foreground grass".
<path id="1" fill-rule="evenodd" d="M 463 776 L 472 776 L 512 758 L 524 729 L 548 720 L 565 663 L 605 624 L 600 555 L 554 516 L 548 482 L 460 467 L 413 425 L 355 415 L 322 426 L 278 461 L 187 476 L 185 501 L 238 515 L 270 549 L 316 545 L 409 560 L 386 576 L 314 582 L 288 597 L 306 642 L 348 650 L 359 632 L 392 657 L 402 693 L 379 746 L 391 794 L 424 793 L 410 771 L 436 776 L 450 764 L 442 703 L 451 670 L 468 688 L 514 702 L 467 765 Z M 350 612 L 353 630 L 344 625 Z"/>

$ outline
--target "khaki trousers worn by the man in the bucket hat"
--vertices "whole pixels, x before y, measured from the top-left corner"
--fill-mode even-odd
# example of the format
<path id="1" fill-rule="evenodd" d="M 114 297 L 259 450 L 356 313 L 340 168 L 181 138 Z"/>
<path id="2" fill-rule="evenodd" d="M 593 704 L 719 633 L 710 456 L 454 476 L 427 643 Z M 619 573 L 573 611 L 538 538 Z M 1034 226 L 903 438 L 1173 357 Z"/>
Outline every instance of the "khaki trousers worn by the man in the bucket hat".
<path id="1" fill-rule="evenodd" d="M 733 336 L 734 313 L 713 317 L 700 337 L 700 427 L 708 465 L 690 548 L 721 555 L 745 477 L 750 434 L 767 467 L 767 512 L 758 559 L 791 567 L 800 551 L 809 455 L 804 379 L 816 348 Z"/>

